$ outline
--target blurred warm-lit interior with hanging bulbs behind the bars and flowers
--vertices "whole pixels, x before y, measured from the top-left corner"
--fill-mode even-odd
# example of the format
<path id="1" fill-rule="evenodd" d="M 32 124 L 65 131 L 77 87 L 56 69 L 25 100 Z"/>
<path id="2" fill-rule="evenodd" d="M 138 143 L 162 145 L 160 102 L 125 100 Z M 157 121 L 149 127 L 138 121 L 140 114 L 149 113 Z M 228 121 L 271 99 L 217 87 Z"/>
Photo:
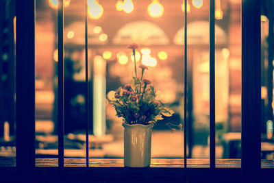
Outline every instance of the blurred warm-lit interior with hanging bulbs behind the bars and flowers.
<path id="1" fill-rule="evenodd" d="M 241 158 L 241 1 L 215 2 L 216 158 Z M 157 98 L 175 111 L 153 127 L 151 156 L 182 158 L 184 132 L 165 123 L 184 123 L 184 1 L 88 0 L 88 68 L 84 3 L 64 0 L 64 156 L 86 156 L 88 69 L 93 79 L 88 101 L 90 156 L 123 158 L 122 120 L 106 98 L 130 82 L 134 62 L 127 45 L 136 42 L 137 64 L 149 66 L 145 77 L 152 81 Z M 273 159 L 273 27 L 269 29 L 268 18 L 273 6 L 268 3 L 261 4 L 262 158 Z M 0 156 L 15 156 L 14 2 L 1 1 L 1 10 Z M 209 0 L 188 0 L 187 10 L 188 158 L 209 158 Z M 36 156 L 43 158 L 58 154 L 57 11 L 57 0 L 36 1 Z"/>

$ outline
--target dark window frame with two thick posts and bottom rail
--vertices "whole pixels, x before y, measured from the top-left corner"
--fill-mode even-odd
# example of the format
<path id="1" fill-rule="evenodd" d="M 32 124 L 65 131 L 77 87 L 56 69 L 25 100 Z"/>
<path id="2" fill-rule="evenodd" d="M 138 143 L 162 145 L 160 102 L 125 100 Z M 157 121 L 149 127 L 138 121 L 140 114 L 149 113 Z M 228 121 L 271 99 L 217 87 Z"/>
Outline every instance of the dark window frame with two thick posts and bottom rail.
<path id="1" fill-rule="evenodd" d="M 214 0 L 210 0 L 210 4 L 214 5 Z M 1 168 L 3 170 L 2 173 L 17 171 L 19 178 L 30 178 L 35 173 L 36 175 L 51 175 L 51 177 L 61 178 L 61 180 L 64 178 L 63 175 L 77 178 L 79 174 L 84 175 L 82 178 L 86 180 L 88 178 L 92 178 L 93 180 L 111 180 L 112 178 L 125 180 L 129 179 L 129 175 L 137 180 L 138 178 L 153 177 L 164 178 L 164 180 L 169 180 L 169 178 L 173 178 L 173 180 L 188 180 L 189 178 L 190 180 L 199 180 L 199 176 L 201 177 L 200 180 L 204 178 L 210 179 L 210 176 L 212 176 L 211 179 L 218 180 L 224 176 L 227 177 L 227 175 L 230 177 L 231 173 L 233 173 L 242 180 L 254 180 L 262 177 L 267 178 L 267 173 L 272 171 L 271 169 L 261 169 L 260 160 L 260 1 L 242 0 L 241 169 L 216 169 L 214 167 L 215 159 L 210 161 L 210 168 L 203 169 L 72 168 L 63 167 L 62 162 L 59 164 L 59 167 L 35 167 L 35 0 L 28 1 L 27 3 L 16 0 L 16 29 L 16 167 L 11 169 Z M 214 36 L 212 37 L 211 35 L 210 40 L 214 41 Z M 210 44 L 210 50 L 213 50 L 210 51 L 213 54 L 210 56 L 210 60 L 214 60 L 214 44 L 212 45 L 212 43 Z M 62 56 L 60 56 L 60 60 L 62 59 Z M 212 66 L 214 64 L 210 65 L 214 69 Z M 212 74 L 211 72 L 210 78 L 212 79 L 210 80 L 214 81 L 214 77 L 212 76 L 214 76 L 214 73 Z M 214 87 L 212 86 L 212 88 Z M 25 103 L 28 103 L 27 107 Z M 210 112 L 210 114 L 213 113 Z M 210 122 L 210 125 L 210 131 L 214 132 L 214 126 L 212 126 L 214 125 L 214 120 Z M 60 123 L 59 127 L 63 127 L 63 125 Z M 214 145 L 214 141 L 210 141 L 210 145 Z M 213 147 L 210 147 L 210 149 L 213 149 Z M 59 154 L 59 159 L 62 159 L 62 152 Z M 213 157 L 215 158 L 215 155 L 212 150 L 210 158 Z M 235 178 L 233 177 L 231 176 L 227 180 L 234 180 Z"/>

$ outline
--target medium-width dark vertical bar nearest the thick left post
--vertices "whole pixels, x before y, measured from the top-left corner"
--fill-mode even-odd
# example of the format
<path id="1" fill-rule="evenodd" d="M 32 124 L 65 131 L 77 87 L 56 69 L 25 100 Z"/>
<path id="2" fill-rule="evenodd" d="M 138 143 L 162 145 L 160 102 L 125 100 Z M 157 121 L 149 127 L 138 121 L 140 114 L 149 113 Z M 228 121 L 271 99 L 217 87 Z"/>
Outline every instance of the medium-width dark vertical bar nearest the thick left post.
<path id="1" fill-rule="evenodd" d="M 64 167 L 64 8 L 58 0 L 58 167 Z"/>

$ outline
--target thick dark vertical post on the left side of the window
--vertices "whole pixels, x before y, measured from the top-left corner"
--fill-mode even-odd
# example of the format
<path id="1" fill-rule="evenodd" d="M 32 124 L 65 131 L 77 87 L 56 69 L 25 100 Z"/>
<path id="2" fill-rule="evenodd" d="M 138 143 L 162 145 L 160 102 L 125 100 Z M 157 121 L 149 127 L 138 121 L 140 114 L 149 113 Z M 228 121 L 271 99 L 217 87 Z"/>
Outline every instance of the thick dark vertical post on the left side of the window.
<path id="1" fill-rule="evenodd" d="M 16 167 L 35 166 L 35 1 L 16 1 Z"/>

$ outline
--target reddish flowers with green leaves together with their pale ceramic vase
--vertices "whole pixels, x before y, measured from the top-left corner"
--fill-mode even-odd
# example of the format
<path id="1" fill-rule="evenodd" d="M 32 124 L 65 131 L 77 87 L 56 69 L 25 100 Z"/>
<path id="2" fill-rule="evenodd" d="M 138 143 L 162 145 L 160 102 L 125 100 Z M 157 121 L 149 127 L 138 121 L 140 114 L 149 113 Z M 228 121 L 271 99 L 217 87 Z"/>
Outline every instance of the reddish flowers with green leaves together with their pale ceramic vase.
<path id="1" fill-rule="evenodd" d="M 155 89 L 151 82 L 143 78 L 148 66 L 140 64 L 136 68 L 136 49 L 138 45 L 129 45 L 134 56 L 135 76 L 131 84 L 116 90 L 115 99 L 110 101 L 117 117 L 123 117 L 124 123 L 124 164 L 125 167 L 149 167 L 151 158 L 151 128 L 154 123 L 165 117 L 171 117 L 173 110 L 162 106 L 155 100 Z"/>

